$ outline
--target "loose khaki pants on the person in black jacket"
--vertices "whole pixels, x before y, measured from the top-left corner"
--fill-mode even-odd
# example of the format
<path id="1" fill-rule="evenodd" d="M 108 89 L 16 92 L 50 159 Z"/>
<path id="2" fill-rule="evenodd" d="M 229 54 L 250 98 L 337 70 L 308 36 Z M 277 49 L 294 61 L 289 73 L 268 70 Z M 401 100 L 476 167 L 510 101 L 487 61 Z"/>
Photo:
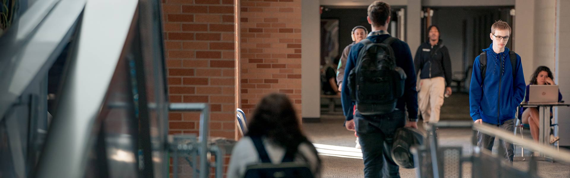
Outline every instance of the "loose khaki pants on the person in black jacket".
<path id="1" fill-rule="evenodd" d="M 430 79 L 421 79 L 418 92 L 418 109 L 424 122 L 437 123 L 439 111 L 443 105 L 443 92 L 445 92 L 445 78 L 437 76 Z"/>

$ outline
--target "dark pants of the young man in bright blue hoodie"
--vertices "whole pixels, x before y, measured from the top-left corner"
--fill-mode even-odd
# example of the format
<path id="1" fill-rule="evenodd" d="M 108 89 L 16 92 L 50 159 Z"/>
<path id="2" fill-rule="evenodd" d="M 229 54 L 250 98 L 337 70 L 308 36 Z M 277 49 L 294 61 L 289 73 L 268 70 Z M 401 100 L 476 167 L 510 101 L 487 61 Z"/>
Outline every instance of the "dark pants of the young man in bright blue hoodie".
<path id="1" fill-rule="evenodd" d="M 515 131 L 515 119 L 509 119 L 506 120 L 503 124 L 499 125 L 499 128 L 502 130 L 505 130 L 509 133 L 512 133 Z M 483 122 L 484 124 L 487 124 L 488 126 L 493 126 L 496 127 L 496 124 L 490 124 L 490 123 L 486 123 Z M 489 136 L 487 134 L 483 134 L 481 132 L 477 133 L 477 145 L 481 148 L 486 148 L 489 151 L 492 150 L 493 145 L 495 144 L 495 137 L 494 136 Z M 507 143 L 506 141 L 503 141 L 503 145 L 499 145 L 499 147 L 503 147 L 504 150 L 506 150 L 507 152 L 504 153 L 504 158 L 507 159 L 508 161 L 511 161 L 512 163 L 512 157 L 515 156 L 515 149 L 512 145 L 512 143 Z M 499 153 L 499 155 L 502 153 Z"/>

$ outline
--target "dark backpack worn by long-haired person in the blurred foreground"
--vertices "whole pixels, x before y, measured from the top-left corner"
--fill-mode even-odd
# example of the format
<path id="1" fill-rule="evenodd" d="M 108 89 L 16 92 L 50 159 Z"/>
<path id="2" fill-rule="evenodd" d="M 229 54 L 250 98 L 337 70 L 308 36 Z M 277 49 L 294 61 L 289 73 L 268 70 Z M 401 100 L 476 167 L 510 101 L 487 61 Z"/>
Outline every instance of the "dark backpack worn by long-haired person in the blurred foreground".
<path id="1" fill-rule="evenodd" d="M 246 178 L 314 178 L 309 164 L 293 162 L 295 153 L 286 152 L 280 164 L 272 164 L 261 137 L 251 137 L 262 163 L 247 165 Z"/>

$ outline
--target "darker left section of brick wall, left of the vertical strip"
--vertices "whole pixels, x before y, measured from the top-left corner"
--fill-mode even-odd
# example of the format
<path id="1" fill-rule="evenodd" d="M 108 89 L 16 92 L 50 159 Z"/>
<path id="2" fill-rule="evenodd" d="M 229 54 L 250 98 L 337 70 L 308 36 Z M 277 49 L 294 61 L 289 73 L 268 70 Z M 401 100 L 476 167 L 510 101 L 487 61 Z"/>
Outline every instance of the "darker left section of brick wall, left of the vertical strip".
<path id="1" fill-rule="evenodd" d="M 234 138 L 234 0 L 164 0 L 170 102 L 210 103 L 210 136 Z M 197 133 L 197 113 L 170 113 L 170 133 Z"/>

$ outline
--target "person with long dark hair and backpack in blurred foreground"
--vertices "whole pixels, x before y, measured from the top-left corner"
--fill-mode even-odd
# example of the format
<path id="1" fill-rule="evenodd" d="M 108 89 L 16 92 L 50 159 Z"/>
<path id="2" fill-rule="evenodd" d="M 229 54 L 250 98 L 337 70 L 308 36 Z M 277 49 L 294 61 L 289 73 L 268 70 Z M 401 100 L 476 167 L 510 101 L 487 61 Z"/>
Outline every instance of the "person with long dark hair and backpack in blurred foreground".
<path id="1" fill-rule="evenodd" d="M 247 128 L 246 135 L 231 152 L 228 178 L 320 177 L 321 160 L 301 132 L 287 95 L 265 96 L 257 104 Z"/>

